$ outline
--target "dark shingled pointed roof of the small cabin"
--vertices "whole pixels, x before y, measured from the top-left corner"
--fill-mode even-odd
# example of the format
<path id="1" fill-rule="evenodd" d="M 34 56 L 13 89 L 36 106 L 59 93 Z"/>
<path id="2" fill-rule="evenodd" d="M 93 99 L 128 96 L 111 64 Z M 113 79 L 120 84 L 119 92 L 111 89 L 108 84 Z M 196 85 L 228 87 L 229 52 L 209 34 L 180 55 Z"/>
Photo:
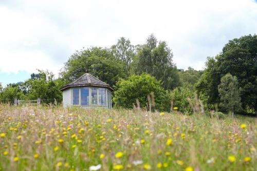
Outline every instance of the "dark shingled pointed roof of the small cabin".
<path id="1" fill-rule="evenodd" d="M 71 82 L 64 87 L 60 88 L 60 90 L 65 90 L 66 88 L 69 87 L 81 87 L 81 86 L 97 86 L 97 87 L 107 87 L 111 89 L 112 91 L 114 90 L 109 84 L 106 84 L 102 82 L 101 80 L 97 79 L 90 73 L 85 73 L 82 75 L 80 78 L 75 80 L 74 82 Z"/>

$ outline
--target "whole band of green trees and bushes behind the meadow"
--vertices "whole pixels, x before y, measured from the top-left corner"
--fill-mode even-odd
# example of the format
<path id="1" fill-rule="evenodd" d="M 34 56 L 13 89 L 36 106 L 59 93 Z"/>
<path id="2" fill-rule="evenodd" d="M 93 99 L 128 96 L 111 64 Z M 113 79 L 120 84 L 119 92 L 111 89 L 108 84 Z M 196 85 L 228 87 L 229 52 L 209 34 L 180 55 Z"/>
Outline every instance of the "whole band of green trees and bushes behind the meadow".
<path id="1" fill-rule="evenodd" d="M 61 101 L 59 88 L 87 72 L 114 87 L 117 108 L 132 108 L 138 99 L 141 107 L 149 109 L 152 98 L 153 108 L 158 110 L 169 111 L 172 101 L 179 111 L 192 113 L 191 105 L 197 98 L 206 111 L 215 108 L 256 113 L 256 58 L 257 36 L 247 35 L 229 41 L 215 58 L 207 58 L 205 70 L 182 70 L 173 63 L 167 43 L 158 41 L 153 34 L 143 45 L 132 45 L 121 37 L 110 48 L 76 51 L 64 64 L 58 79 L 53 79 L 51 72 L 39 70 L 25 82 L 0 86 L 0 99 L 3 103 L 12 103 L 15 97 L 41 98 L 46 103 L 50 99 Z"/>

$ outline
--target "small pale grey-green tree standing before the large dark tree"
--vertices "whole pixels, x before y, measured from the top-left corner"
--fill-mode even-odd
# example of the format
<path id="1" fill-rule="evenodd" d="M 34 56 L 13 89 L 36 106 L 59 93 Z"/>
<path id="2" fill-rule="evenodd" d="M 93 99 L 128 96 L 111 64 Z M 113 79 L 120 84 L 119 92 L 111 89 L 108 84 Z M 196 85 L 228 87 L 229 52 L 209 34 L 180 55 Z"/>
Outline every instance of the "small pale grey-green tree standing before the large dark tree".
<path id="1" fill-rule="evenodd" d="M 237 78 L 230 73 L 224 75 L 221 79 L 221 84 L 218 85 L 219 97 L 221 97 L 221 106 L 227 110 L 232 111 L 232 117 L 234 117 L 234 111 L 238 111 L 241 108 L 241 89 L 238 88 Z"/>

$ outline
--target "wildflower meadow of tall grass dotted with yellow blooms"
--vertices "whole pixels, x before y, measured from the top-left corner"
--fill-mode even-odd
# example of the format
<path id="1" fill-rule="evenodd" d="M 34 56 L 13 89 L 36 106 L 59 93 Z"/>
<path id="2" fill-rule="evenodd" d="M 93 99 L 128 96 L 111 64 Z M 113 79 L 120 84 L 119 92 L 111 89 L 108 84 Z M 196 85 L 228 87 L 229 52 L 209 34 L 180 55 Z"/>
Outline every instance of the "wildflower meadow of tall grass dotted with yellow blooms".
<path id="1" fill-rule="evenodd" d="M 0 105 L 0 167 L 256 170 L 256 125 L 240 116 Z"/>

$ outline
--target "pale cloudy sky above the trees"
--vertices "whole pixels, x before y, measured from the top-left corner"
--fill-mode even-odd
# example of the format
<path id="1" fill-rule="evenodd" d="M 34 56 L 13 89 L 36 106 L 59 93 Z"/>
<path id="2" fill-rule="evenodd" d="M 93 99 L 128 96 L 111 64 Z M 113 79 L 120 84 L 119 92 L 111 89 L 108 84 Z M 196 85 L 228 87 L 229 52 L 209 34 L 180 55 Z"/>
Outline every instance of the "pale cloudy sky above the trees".
<path id="1" fill-rule="evenodd" d="M 0 82 L 25 81 L 36 69 L 56 77 L 83 47 L 111 47 L 120 37 L 166 41 L 177 68 L 203 69 L 236 37 L 257 32 L 254 0 L 0 1 Z"/>

